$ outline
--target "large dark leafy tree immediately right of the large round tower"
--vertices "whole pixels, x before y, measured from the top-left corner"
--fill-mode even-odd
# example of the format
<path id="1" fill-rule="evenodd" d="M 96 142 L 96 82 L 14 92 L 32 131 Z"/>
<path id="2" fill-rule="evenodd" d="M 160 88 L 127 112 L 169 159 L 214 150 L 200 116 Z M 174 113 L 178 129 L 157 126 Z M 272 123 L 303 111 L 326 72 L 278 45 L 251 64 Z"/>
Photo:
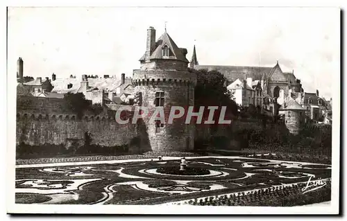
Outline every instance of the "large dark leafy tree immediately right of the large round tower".
<path id="1" fill-rule="evenodd" d="M 194 106 L 198 109 L 201 106 L 218 106 L 215 116 L 219 117 L 221 106 L 226 106 L 226 118 L 236 116 L 238 106 L 233 100 L 233 93 L 226 88 L 226 78 L 219 71 L 189 69 L 189 72 L 196 73 L 197 84 L 195 87 Z M 208 118 L 208 112 L 204 112 L 204 117 Z M 218 118 L 214 117 L 216 123 Z"/>

